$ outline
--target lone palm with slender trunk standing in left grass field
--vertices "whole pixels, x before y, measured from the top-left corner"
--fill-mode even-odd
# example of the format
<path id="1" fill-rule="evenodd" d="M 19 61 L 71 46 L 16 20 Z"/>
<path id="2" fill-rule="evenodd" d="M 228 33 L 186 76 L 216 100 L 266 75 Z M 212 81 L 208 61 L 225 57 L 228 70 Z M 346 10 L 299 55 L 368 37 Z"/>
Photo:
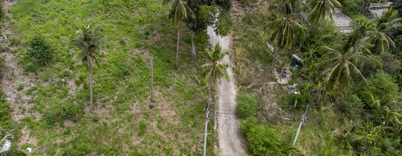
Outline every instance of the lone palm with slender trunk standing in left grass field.
<path id="1" fill-rule="evenodd" d="M 74 46 L 80 48 L 80 51 L 73 52 L 70 55 L 74 55 L 74 57 L 81 58 L 81 61 L 87 64 L 87 69 L 90 72 L 90 91 L 91 91 L 91 106 L 90 111 L 93 110 L 93 92 L 92 92 L 92 69 L 93 62 L 100 67 L 99 62 L 96 57 L 103 56 L 105 52 L 100 47 L 102 43 L 104 43 L 106 37 L 100 34 L 99 29 L 97 27 L 93 27 L 92 25 L 88 25 L 87 27 L 77 27 L 77 39 L 73 40 L 71 43 Z"/>

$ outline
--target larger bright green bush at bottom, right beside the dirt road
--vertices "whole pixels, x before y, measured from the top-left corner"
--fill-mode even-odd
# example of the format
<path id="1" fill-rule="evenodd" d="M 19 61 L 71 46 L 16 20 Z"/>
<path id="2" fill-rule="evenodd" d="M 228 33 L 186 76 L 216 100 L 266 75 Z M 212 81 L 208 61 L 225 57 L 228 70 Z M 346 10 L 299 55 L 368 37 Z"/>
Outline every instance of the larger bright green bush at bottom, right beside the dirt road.
<path id="1" fill-rule="evenodd" d="M 257 125 L 257 119 L 254 117 L 243 120 L 240 128 L 246 135 L 247 147 L 253 155 L 281 155 L 281 141 L 276 129 Z"/>

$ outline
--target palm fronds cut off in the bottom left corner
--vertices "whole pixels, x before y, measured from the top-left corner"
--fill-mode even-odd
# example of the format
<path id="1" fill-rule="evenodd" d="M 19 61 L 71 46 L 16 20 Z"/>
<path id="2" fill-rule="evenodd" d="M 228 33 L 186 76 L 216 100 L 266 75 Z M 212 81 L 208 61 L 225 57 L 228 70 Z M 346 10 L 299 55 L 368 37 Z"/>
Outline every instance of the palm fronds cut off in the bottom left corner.
<path id="1" fill-rule="evenodd" d="M 6 131 L 0 128 L 0 156 L 27 156 L 24 152 L 10 149 L 13 131 L 14 129 Z"/>

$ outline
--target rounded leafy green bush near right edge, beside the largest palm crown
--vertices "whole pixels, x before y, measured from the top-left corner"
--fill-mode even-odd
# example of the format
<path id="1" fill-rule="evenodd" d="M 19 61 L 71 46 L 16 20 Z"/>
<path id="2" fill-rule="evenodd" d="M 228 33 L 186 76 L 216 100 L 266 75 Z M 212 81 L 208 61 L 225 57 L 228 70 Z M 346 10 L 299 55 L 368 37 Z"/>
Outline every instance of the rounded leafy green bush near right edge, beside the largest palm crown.
<path id="1" fill-rule="evenodd" d="M 398 95 L 399 87 L 395 80 L 385 72 L 378 72 L 367 78 L 366 90 L 373 94 L 374 99 L 381 99 L 385 95 Z"/>

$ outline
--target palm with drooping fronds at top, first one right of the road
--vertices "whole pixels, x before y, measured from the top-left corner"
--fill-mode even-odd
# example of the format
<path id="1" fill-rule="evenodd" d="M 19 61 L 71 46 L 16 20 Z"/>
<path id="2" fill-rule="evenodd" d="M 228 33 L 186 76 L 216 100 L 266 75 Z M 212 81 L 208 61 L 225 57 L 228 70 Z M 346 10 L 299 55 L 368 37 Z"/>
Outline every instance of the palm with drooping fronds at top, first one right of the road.
<path id="1" fill-rule="evenodd" d="M 302 17 L 298 12 L 296 3 L 298 0 L 288 0 L 269 7 L 271 13 L 277 15 L 278 18 L 264 27 L 264 34 L 269 34 L 269 42 L 274 43 L 276 41 L 276 46 L 279 49 L 292 47 L 294 39 L 297 37 L 302 39 L 306 36 L 306 29 L 301 24 Z M 272 66 L 275 56 L 272 60 Z"/>

